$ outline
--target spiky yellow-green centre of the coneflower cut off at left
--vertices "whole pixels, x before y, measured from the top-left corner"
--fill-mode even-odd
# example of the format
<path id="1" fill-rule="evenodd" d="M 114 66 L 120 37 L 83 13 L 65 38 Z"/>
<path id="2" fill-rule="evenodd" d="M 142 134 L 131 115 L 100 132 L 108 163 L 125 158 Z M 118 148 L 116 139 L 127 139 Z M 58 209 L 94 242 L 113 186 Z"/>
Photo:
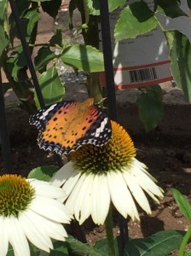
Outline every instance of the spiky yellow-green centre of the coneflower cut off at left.
<path id="1" fill-rule="evenodd" d="M 26 210 L 35 195 L 30 182 L 17 175 L 0 177 L 0 215 L 8 217 Z"/>

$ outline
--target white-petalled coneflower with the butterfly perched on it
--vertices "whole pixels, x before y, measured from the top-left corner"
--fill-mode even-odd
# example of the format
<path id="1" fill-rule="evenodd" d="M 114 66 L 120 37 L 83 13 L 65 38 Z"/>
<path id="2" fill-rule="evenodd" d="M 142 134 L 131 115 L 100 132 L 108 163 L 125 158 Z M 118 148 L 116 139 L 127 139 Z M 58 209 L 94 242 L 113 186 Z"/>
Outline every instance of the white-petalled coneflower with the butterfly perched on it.
<path id="1" fill-rule="evenodd" d="M 71 161 L 55 173 L 51 182 L 66 191 L 66 206 L 79 224 L 90 215 L 96 224 L 103 224 L 111 201 L 124 218 L 129 215 L 139 219 L 136 202 L 151 213 L 145 192 L 159 203 L 163 190 L 135 156 L 129 134 L 114 121 L 106 145 L 83 145 L 72 152 Z"/>

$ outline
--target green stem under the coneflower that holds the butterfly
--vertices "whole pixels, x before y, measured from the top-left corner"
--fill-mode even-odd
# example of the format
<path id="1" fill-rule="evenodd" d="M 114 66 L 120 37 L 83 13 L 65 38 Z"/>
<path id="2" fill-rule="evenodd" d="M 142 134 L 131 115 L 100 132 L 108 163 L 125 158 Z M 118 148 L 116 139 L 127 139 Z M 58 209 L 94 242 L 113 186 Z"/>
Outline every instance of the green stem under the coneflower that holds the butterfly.
<path id="1" fill-rule="evenodd" d="M 107 234 L 108 256 L 115 256 L 112 207 L 109 208 L 105 225 Z"/>

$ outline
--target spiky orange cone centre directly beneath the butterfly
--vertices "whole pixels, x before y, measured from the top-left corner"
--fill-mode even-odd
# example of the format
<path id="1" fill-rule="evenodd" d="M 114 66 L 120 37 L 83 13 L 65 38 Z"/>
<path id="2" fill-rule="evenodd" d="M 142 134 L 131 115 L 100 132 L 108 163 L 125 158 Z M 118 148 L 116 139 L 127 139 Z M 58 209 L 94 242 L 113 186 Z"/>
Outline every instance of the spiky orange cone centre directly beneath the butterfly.
<path id="1" fill-rule="evenodd" d="M 101 174 L 120 171 L 136 156 L 129 134 L 116 122 L 112 121 L 111 124 L 112 137 L 106 145 L 96 147 L 87 144 L 71 153 L 71 160 L 80 172 Z"/>

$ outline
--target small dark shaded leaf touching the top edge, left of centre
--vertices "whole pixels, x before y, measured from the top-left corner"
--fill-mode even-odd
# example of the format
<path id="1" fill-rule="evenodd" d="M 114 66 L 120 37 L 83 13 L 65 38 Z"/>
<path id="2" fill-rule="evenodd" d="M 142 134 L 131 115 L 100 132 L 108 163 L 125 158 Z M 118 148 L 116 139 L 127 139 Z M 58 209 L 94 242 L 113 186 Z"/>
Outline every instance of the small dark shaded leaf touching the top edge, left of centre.
<path id="1" fill-rule="evenodd" d="M 52 0 L 41 2 L 41 7 L 44 12 L 55 19 L 58 15 L 58 9 L 61 6 L 61 0 Z"/>

